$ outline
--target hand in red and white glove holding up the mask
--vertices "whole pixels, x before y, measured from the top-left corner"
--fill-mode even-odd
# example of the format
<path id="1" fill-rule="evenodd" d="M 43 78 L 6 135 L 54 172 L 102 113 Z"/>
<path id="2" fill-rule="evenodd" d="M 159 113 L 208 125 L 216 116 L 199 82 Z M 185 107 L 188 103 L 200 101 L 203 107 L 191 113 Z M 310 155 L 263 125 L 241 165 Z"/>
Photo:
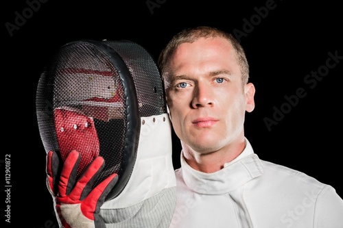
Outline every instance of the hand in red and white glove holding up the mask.
<path id="1" fill-rule="evenodd" d="M 59 176 L 60 161 L 54 151 L 47 153 L 47 187 L 54 199 L 58 223 L 64 228 L 103 228 L 104 220 L 99 215 L 105 197 L 117 183 L 113 173 L 92 189 L 93 183 L 104 168 L 104 158 L 95 159 L 77 179 L 81 155 L 71 151 Z"/>

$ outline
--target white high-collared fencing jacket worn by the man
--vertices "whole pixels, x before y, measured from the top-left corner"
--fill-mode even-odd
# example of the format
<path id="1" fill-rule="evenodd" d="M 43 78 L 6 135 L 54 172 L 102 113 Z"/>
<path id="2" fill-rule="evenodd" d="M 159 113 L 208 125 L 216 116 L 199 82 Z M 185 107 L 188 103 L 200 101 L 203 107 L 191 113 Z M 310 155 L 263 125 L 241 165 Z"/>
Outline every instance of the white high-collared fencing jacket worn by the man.
<path id="1" fill-rule="evenodd" d="M 175 228 L 343 228 L 335 189 L 291 168 L 260 160 L 246 148 L 215 173 L 176 170 Z"/>

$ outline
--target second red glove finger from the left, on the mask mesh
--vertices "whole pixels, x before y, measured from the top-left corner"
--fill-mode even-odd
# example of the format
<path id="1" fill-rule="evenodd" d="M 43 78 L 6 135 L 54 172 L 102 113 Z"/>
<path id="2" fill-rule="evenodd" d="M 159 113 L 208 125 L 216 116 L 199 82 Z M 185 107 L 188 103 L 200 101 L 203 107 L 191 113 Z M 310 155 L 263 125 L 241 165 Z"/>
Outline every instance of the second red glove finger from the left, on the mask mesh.
<path id="1" fill-rule="evenodd" d="M 64 160 L 60 182 L 58 183 L 58 193 L 61 197 L 66 197 L 73 189 L 76 181 L 78 164 L 80 163 L 81 155 L 78 151 L 71 151 L 66 160 Z"/>

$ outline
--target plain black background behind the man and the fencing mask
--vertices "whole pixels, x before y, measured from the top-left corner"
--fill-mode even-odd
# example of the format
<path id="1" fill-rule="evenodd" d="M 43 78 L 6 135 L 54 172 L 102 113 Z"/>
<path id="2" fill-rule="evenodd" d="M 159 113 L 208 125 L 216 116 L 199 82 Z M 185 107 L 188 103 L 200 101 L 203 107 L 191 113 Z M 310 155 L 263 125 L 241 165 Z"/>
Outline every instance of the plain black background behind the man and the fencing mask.
<path id="1" fill-rule="evenodd" d="M 35 3 L 34 10 L 29 10 L 29 2 Z M 343 60 L 326 67 L 329 52 L 343 56 L 339 1 L 37 2 L 5 1 L 1 10 L 5 50 L 1 116 L 5 137 L 0 165 L 5 173 L 5 155 L 10 155 L 12 185 L 11 223 L 6 227 L 57 227 L 45 186 L 45 150 L 35 112 L 36 86 L 47 58 L 74 40 L 125 39 L 139 43 L 156 59 L 172 35 L 196 25 L 211 25 L 242 35 L 250 81 L 257 90 L 256 107 L 246 115 L 245 127 L 255 153 L 263 160 L 303 171 L 343 196 Z M 149 2 L 155 4 L 151 9 Z M 272 2 L 268 13 L 262 10 Z M 18 15 L 25 16 L 25 21 L 16 20 Z M 252 23 L 250 27 L 247 21 Z M 19 26 L 10 31 L 8 25 L 16 23 Z M 311 71 L 325 75 L 312 88 L 304 81 Z M 290 105 L 285 96 L 294 97 L 298 88 L 307 95 Z M 276 120 L 274 109 L 286 106 L 290 107 L 284 110 L 287 113 L 268 129 L 263 120 Z M 176 168 L 179 154 L 180 144 L 174 139 Z M 5 175 L 2 177 L 5 186 Z M 0 201 L 6 206 L 6 194 L 2 195 Z M 3 220 L 5 206 L 1 207 Z"/>

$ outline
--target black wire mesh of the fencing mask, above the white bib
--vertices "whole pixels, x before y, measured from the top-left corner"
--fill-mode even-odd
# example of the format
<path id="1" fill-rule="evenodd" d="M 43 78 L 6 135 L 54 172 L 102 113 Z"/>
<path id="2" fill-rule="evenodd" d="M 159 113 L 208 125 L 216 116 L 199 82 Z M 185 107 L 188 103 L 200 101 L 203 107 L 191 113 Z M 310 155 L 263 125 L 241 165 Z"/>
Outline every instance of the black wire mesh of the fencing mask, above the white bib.
<path id="1" fill-rule="evenodd" d="M 101 155 L 105 167 L 95 185 L 118 173 L 117 185 L 123 188 L 137 152 L 128 151 L 128 144 L 135 144 L 134 150 L 138 147 L 137 138 L 128 134 L 132 114 L 127 101 L 137 100 L 137 118 L 163 114 L 163 84 L 154 60 L 141 46 L 130 41 L 103 41 L 99 48 L 96 43 L 71 42 L 48 62 L 36 93 L 38 128 L 46 152 L 57 151 L 63 161 L 73 149 L 81 153 L 79 176 Z M 113 50 L 120 60 L 111 56 Z M 125 77 L 114 61 L 126 64 Z M 125 80 L 132 80 L 134 87 L 127 88 Z M 139 136 L 139 127 L 131 131 L 138 131 Z"/>

